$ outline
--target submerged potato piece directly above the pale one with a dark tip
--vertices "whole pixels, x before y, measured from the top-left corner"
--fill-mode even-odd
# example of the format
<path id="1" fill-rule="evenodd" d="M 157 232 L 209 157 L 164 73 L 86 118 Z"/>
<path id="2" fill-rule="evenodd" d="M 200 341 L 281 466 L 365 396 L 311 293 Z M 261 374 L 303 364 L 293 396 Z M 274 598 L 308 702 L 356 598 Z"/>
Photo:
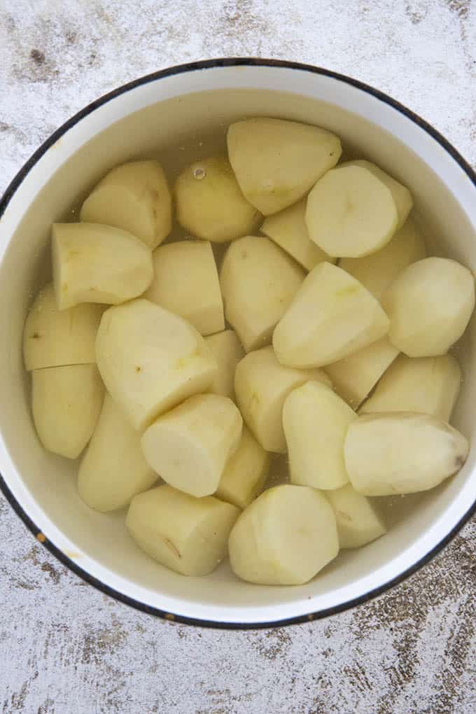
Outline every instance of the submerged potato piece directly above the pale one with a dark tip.
<path id="1" fill-rule="evenodd" d="M 461 368 L 452 355 L 400 355 L 359 413 L 414 411 L 450 421 L 460 385 Z"/>

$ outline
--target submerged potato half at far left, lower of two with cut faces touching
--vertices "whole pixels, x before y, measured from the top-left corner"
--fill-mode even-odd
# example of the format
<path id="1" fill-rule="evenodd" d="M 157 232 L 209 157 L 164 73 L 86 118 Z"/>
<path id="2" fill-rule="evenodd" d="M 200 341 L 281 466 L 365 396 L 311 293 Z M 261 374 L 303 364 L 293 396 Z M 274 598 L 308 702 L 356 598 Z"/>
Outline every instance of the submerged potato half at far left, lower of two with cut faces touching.
<path id="1" fill-rule="evenodd" d="M 33 421 L 44 448 L 77 458 L 93 435 L 103 396 L 95 364 L 32 371 Z"/>

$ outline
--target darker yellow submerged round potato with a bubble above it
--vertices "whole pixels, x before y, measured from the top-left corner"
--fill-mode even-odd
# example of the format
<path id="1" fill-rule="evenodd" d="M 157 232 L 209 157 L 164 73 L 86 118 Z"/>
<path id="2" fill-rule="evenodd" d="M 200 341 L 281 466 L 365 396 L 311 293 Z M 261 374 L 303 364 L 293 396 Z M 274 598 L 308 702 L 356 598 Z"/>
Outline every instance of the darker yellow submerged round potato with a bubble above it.
<path id="1" fill-rule="evenodd" d="M 260 212 L 241 193 L 224 156 L 196 161 L 183 169 L 174 194 L 178 223 L 213 243 L 247 236 L 260 222 Z"/>

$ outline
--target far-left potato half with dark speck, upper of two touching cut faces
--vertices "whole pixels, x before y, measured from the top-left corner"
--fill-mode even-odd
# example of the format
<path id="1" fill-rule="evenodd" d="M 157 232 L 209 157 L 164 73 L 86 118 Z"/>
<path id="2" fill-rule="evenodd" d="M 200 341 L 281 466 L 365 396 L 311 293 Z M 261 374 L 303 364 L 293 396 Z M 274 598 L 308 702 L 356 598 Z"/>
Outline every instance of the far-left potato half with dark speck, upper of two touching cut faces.
<path id="1" fill-rule="evenodd" d="M 103 305 L 56 308 L 53 283 L 41 288 L 26 317 L 23 356 L 27 370 L 96 361 L 96 332 Z"/>

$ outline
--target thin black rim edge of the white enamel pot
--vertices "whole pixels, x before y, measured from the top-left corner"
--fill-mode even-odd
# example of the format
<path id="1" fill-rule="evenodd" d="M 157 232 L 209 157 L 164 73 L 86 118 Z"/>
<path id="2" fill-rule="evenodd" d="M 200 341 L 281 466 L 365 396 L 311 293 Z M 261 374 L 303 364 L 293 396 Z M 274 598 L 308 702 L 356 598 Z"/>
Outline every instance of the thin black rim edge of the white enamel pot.
<path id="1" fill-rule="evenodd" d="M 330 71 L 328 69 L 323 69 L 321 67 L 315 67 L 310 64 L 300 64 L 299 62 L 288 62 L 284 60 L 275 60 L 275 59 L 255 59 L 255 58 L 223 58 L 223 59 L 208 59 L 208 60 L 203 60 L 203 61 L 198 61 L 198 62 L 191 62 L 188 64 L 181 64 L 177 65 L 174 67 L 171 67 L 169 69 L 163 69 L 158 72 L 153 72 L 152 74 L 148 74 L 146 76 L 143 76 L 139 79 L 136 79 L 134 81 L 128 82 L 128 84 L 124 84 L 121 87 L 118 87 L 118 89 L 114 89 L 111 92 L 108 92 L 108 94 L 105 94 L 101 96 L 99 99 L 96 99 L 96 101 L 91 102 L 91 104 L 88 104 L 88 106 L 84 107 L 84 109 L 81 109 L 77 114 L 71 117 L 68 121 L 66 121 L 62 126 L 59 127 L 59 129 L 56 129 L 51 136 L 49 136 L 46 141 L 44 141 L 43 144 L 37 149 L 34 154 L 30 157 L 28 161 L 26 161 L 26 164 L 22 166 L 18 174 L 14 177 L 14 179 L 11 181 L 9 186 L 6 188 L 6 191 L 4 195 L 1 198 L 0 201 L 0 217 L 3 215 L 4 211 L 6 210 L 6 207 L 8 206 L 9 202 L 11 201 L 12 196 L 14 195 L 15 191 L 17 188 L 19 188 L 20 184 L 22 181 L 24 181 L 24 178 L 29 174 L 29 171 L 33 168 L 33 166 L 41 159 L 41 156 L 43 156 L 46 151 L 52 146 L 53 144 L 58 141 L 61 136 L 66 134 L 66 131 L 71 129 L 72 126 L 77 124 L 81 119 L 83 119 L 85 116 L 88 116 L 88 114 L 91 114 L 92 111 L 97 109 L 99 106 L 102 106 L 103 104 L 106 104 L 108 101 L 111 99 L 114 99 L 116 96 L 119 96 L 121 94 L 125 94 L 127 91 L 134 89 L 138 86 L 141 86 L 143 84 L 148 84 L 148 82 L 151 81 L 156 81 L 158 79 L 162 79 L 163 77 L 168 77 L 168 76 L 173 76 L 174 74 L 183 74 L 184 72 L 189 72 L 189 71 L 195 71 L 195 70 L 200 70 L 200 69 L 211 69 L 213 67 L 230 67 L 230 66 L 265 66 L 265 67 L 283 67 L 285 69 L 298 69 L 300 71 L 308 71 L 312 74 L 320 74 L 323 76 L 328 76 L 331 79 L 337 79 L 338 81 L 343 82 L 344 84 L 350 84 L 351 86 L 355 87 L 356 89 L 360 89 L 361 91 L 365 91 L 368 94 L 371 94 L 374 96 L 376 99 L 379 99 L 380 101 L 383 101 L 385 104 L 388 104 L 389 106 L 393 107 L 393 109 L 396 109 L 397 111 L 400 112 L 400 114 L 403 114 L 404 116 L 407 117 L 407 119 L 410 119 L 413 121 L 415 124 L 420 126 L 422 129 L 424 129 L 427 134 L 430 134 L 433 139 L 435 139 L 440 146 L 442 146 L 445 151 L 447 151 L 450 156 L 452 156 L 452 159 L 454 159 L 457 164 L 459 164 L 460 168 L 467 174 L 468 178 L 470 178 L 470 181 L 474 184 L 476 187 L 476 173 L 475 171 L 472 170 L 471 166 L 465 161 L 465 159 L 462 158 L 460 153 L 455 149 L 452 144 L 450 144 L 447 139 L 445 139 L 444 136 L 442 136 L 436 129 L 434 129 L 430 124 L 427 123 L 424 119 L 422 119 L 420 116 L 415 114 L 414 112 L 410 111 L 410 109 L 407 109 L 405 106 L 400 104 L 399 102 L 395 101 L 395 99 L 391 99 L 390 96 L 387 94 L 384 94 L 383 92 L 379 91 L 378 89 L 374 89 L 373 87 L 369 86 L 368 84 L 364 84 L 361 81 L 358 81 L 357 79 L 353 79 L 351 77 L 345 76 L 343 74 L 338 74 L 337 72 Z M 21 520 L 24 522 L 25 526 L 29 528 L 31 533 L 33 533 L 37 540 L 39 540 L 40 543 L 42 543 L 45 548 L 49 550 L 49 552 L 55 556 L 58 560 L 60 560 L 61 563 L 66 565 L 70 570 L 72 570 L 76 575 L 79 575 L 80 578 L 86 581 L 86 583 L 89 583 L 90 585 L 93 585 L 94 588 L 97 588 L 98 590 L 101 590 L 103 593 L 106 593 L 106 595 L 110 595 L 112 598 L 115 598 L 121 603 L 124 603 L 126 605 L 130 605 L 133 608 L 136 608 L 137 610 L 141 610 L 142 612 L 148 613 L 149 615 L 156 615 L 160 618 L 163 618 L 165 620 L 169 621 L 175 621 L 178 623 L 183 623 L 186 625 L 197 625 L 201 627 L 207 627 L 207 628 L 219 628 L 219 629 L 226 629 L 226 630 L 250 630 L 250 629 L 263 629 L 263 628 L 273 628 L 273 627 L 283 627 L 285 625 L 296 625 L 298 623 L 304 623 L 304 622 L 310 622 L 311 620 L 319 620 L 322 618 L 326 618 L 329 615 L 336 615 L 337 613 L 343 612 L 344 610 L 348 610 L 350 608 L 354 608 L 356 605 L 360 605 L 363 603 L 368 602 L 368 600 L 372 600 L 373 598 L 377 597 L 378 595 L 381 595 L 382 593 L 385 593 L 386 590 L 389 588 L 394 587 L 395 585 L 398 585 L 399 583 L 402 583 L 403 580 L 408 578 L 410 575 L 415 573 L 417 570 L 419 570 L 422 565 L 426 565 L 426 563 L 429 563 L 432 558 L 437 555 L 437 553 L 440 553 L 440 550 L 447 545 L 447 543 L 450 543 L 450 540 L 455 537 L 455 535 L 460 531 L 462 526 L 469 521 L 471 516 L 476 513 L 476 502 L 472 503 L 468 510 L 466 511 L 465 515 L 460 518 L 460 521 L 456 524 L 454 528 L 452 528 L 452 531 L 450 533 L 447 533 L 445 535 L 445 538 L 442 538 L 437 545 L 435 545 L 432 550 L 430 550 L 426 555 L 424 555 L 420 560 L 417 561 L 417 563 L 414 563 L 413 565 L 410 566 L 410 568 L 407 568 L 406 570 L 403 570 L 400 575 L 396 575 L 395 578 L 392 578 L 391 580 L 388 580 L 387 583 L 384 583 L 383 585 L 380 585 L 378 588 L 373 588 L 372 590 L 369 590 L 368 593 L 365 593 L 364 595 L 360 595 L 358 598 L 353 598 L 351 600 L 348 600 L 345 603 L 341 603 L 340 605 L 335 605 L 335 607 L 332 608 L 325 608 L 325 610 L 318 610 L 317 612 L 314 613 L 308 613 L 305 615 L 297 615 L 293 618 L 285 618 L 283 620 L 273 620 L 270 622 L 259 622 L 259 623 L 239 623 L 239 622 L 223 622 L 223 621 L 216 621 L 216 620 L 201 620 L 197 618 L 191 618 L 187 617 L 184 615 L 178 615 L 176 613 L 168 613 L 165 610 L 161 610 L 159 608 L 154 608 L 151 605 L 146 605 L 145 603 L 141 603 L 138 600 L 135 600 L 134 598 L 130 598 L 128 595 L 123 595 L 123 593 L 120 593 L 118 590 L 114 590 L 113 588 L 110 588 L 108 585 L 103 583 L 101 580 L 98 580 L 97 578 L 94 578 L 93 575 L 90 575 L 89 573 L 86 572 L 86 570 L 83 570 L 82 568 L 79 567 L 79 565 L 76 565 L 74 560 L 71 560 L 67 555 L 65 555 L 59 548 L 56 548 L 56 545 L 51 543 L 46 536 L 41 533 L 40 529 L 38 526 L 35 525 L 34 521 L 31 520 L 31 518 L 25 513 L 24 509 L 20 506 L 19 502 L 16 501 L 16 498 L 14 497 L 13 493 L 11 493 L 9 487 L 6 485 L 6 482 L 4 481 L 3 476 L 0 474 L 0 489 L 4 493 L 4 496 L 7 501 L 9 501 L 11 507 L 14 509 L 16 512 L 17 516 L 21 518 Z"/>

